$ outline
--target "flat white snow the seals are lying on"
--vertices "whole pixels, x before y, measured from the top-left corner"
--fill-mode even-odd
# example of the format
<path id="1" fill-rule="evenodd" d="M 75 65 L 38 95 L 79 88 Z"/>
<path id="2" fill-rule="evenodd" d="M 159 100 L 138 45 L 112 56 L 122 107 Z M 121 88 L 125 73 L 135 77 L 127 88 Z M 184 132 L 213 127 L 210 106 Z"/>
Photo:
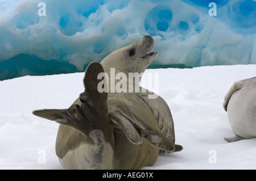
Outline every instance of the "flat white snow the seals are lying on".
<path id="1" fill-rule="evenodd" d="M 223 137 L 234 134 L 222 108 L 232 83 L 255 77 L 255 70 L 256 65 L 147 69 L 159 73 L 159 95 L 171 108 L 176 143 L 184 149 L 160 154 L 154 166 L 143 169 L 256 169 L 256 139 L 226 142 Z M 72 73 L 0 81 L 0 169 L 63 169 L 55 154 L 59 124 L 32 111 L 68 108 L 84 91 L 83 77 Z"/>

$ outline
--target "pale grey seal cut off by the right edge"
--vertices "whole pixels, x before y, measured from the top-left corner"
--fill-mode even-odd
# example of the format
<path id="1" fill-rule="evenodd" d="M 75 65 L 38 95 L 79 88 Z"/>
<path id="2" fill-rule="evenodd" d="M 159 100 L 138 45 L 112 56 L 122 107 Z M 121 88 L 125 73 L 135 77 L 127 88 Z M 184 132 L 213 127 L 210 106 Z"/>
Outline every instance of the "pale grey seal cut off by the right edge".
<path id="1" fill-rule="evenodd" d="M 224 110 L 236 136 L 228 142 L 256 137 L 256 77 L 234 82 L 224 98 Z"/>

